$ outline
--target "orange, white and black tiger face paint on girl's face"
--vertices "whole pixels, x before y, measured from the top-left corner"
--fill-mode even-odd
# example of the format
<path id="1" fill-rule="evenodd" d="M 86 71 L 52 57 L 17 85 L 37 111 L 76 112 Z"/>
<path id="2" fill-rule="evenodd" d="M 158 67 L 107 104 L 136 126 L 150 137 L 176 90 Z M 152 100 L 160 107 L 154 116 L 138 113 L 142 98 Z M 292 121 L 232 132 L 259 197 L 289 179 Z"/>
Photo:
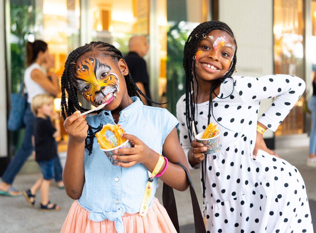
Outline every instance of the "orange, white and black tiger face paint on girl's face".
<path id="1" fill-rule="evenodd" d="M 92 105 L 109 105 L 119 93 L 119 77 L 110 65 L 91 56 L 74 66 L 73 82 L 83 97 Z"/>

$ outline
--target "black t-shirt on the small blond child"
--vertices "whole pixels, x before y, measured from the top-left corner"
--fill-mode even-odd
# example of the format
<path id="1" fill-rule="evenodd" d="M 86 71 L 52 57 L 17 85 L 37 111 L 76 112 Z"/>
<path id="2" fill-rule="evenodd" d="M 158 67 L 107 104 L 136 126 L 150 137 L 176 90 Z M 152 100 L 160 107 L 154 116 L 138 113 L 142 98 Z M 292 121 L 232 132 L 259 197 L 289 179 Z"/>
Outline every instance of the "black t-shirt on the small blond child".
<path id="1" fill-rule="evenodd" d="M 56 129 L 50 119 L 37 117 L 34 122 L 35 160 L 48 161 L 57 156 L 56 141 L 53 134 Z"/>

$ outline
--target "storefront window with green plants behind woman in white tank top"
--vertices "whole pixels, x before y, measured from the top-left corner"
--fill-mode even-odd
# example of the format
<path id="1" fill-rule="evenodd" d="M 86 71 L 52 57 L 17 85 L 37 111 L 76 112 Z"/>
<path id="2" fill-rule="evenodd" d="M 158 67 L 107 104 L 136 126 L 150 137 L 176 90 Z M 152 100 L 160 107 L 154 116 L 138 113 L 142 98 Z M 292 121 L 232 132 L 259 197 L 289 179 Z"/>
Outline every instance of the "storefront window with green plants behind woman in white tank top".
<path id="1" fill-rule="evenodd" d="M 10 1 L 10 44 L 12 92 L 18 92 L 25 70 L 25 45 L 40 39 L 48 44 L 55 58 L 55 72 L 61 77 L 67 55 L 80 46 L 80 0 Z M 54 101 L 59 112 L 60 95 Z M 58 152 L 66 151 L 67 134 L 61 118 L 62 136 L 58 138 Z M 23 130 L 13 134 L 15 147 L 19 147 Z"/>

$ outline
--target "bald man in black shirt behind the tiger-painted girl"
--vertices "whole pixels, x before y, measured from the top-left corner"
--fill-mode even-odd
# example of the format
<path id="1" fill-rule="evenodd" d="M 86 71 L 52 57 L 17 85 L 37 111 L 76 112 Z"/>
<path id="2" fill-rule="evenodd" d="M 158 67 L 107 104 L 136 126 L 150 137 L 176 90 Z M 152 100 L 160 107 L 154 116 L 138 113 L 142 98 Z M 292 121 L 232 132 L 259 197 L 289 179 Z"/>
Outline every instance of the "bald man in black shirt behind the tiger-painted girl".
<path id="1" fill-rule="evenodd" d="M 130 52 L 125 57 L 128 69 L 137 87 L 150 99 L 149 77 L 146 62 L 143 59 L 149 48 L 147 39 L 144 36 L 131 37 L 128 47 Z M 144 105 L 151 105 L 142 95 L 140 97 Z"/>

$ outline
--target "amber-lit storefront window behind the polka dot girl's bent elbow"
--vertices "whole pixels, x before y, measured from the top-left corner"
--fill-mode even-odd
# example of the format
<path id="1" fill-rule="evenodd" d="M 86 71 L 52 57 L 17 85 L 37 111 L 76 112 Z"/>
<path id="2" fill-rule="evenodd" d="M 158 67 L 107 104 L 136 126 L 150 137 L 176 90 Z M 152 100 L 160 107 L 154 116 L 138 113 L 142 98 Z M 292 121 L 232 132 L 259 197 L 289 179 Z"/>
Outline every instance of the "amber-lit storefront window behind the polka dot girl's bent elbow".
<path id="1" fill-rule="evenodd" d="M 303 77 L 303 1 L 274 1 L 274 70 L 276 74 Z M 281 123 L 275 135 L 303 132 L 303 100 L 299 99 L 293 110 Z"/>

